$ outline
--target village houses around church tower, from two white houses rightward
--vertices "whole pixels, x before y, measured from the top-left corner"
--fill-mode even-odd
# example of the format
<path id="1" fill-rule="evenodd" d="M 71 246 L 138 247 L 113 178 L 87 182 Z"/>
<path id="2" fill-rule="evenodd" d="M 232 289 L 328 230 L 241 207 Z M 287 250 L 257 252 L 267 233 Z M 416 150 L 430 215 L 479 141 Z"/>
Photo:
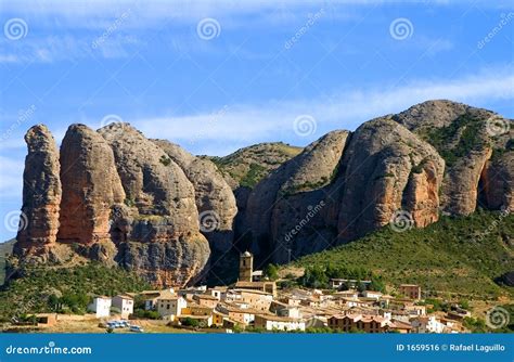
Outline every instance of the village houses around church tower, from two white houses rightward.
<path id="1" fill-rule="evenodd" d="M 421 287 L 403 284 L 398 287 L 402 297 L 380 292 L 355 289 L 337 292 L 348 280 L 332 280 L 336 290 L 293 288 L 278 290 L 274 282 L 262 280 L 260 271 L 253 271 L 253 256 L 240 258 L 240 277 L 231 287 L 206 286 L 183 289 L 145 290 L 140 293 L 144 309 L 158 312 L 171 324 L 183 325 L 195 320 L 201 327 L 247 328 L 266 331 L 306 331 L 332 328 L 342 332 L 367 333 L 460 333 L 460 320 L 453 314 L 427 314 L 427 306 L 420 305 Z M 133 313 L 134 295 L 113 298 L 99 296 L 89 309 L 98 318 L 108 318 L 112 308 L 129 318 Z"/>

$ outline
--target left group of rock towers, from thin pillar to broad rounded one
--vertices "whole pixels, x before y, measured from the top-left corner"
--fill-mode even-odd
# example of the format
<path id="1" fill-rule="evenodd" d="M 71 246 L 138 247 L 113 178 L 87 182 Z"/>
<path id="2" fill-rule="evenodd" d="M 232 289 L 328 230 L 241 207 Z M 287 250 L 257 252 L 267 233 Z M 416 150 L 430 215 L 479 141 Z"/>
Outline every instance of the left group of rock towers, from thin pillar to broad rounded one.
<path id="1" fill-rule="evenodd" d="M 193 185 L 157 145 L 125 124 L 72 125 L 60 158 L 44 126 L 26 140 L 22 262 L 65 263 L 73 245 L 76 257 L 134 270 L 156 287 L 203 275 L 210 250 Z"/>

